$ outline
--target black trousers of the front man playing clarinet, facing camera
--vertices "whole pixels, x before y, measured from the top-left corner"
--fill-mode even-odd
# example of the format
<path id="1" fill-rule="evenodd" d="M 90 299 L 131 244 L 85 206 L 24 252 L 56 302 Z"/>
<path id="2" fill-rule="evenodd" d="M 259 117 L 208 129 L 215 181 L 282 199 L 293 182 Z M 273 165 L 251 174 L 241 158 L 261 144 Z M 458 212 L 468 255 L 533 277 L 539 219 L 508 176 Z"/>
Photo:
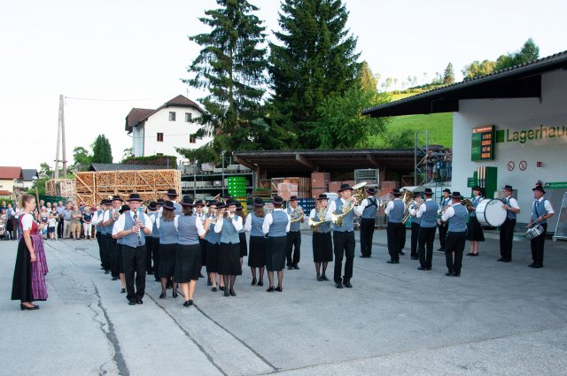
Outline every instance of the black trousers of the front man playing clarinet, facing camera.
<path id="1" fill-rule="evenodd" d="M 122 246 L 124 273 L 126 274 L 126 298 L 128 301 L 141 300 L 145 293 L 145 246 Z M 136 280 L 136 288 L 134 281 Z"/>

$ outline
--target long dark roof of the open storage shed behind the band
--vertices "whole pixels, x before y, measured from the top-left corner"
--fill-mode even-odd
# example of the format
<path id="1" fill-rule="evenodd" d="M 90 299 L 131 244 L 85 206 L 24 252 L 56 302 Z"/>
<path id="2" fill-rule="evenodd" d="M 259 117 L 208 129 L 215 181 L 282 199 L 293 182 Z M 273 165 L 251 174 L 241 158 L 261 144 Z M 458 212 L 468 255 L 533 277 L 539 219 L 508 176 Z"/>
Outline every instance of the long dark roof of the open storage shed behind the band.
<path id="1" fill-rule="evenodd" d="M 252 170 L 294 173 L 352 172 L 362 168 L 414 170 L 414 150 L 270 150 L 238 151 L 234 161 Z"/>

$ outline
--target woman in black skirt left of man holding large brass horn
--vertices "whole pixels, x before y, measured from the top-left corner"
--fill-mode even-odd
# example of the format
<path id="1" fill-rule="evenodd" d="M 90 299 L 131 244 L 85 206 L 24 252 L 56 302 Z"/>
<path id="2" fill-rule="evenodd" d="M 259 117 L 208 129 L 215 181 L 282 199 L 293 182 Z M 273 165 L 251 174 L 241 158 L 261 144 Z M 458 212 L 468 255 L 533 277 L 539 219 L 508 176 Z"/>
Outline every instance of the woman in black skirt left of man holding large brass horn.
<path id="1" fill-rule="evenodd" d="M 330 221 L 325 220 L 329 199 L 326 195 L 319 195 L 315 209 L 309 214 L 309 226 L 316 229 L 313 232 L 313 261 L 317 280 L 329 280 L 325 272 L 327 265 L 333 260 L 333 242 L 330 239 Z"/>

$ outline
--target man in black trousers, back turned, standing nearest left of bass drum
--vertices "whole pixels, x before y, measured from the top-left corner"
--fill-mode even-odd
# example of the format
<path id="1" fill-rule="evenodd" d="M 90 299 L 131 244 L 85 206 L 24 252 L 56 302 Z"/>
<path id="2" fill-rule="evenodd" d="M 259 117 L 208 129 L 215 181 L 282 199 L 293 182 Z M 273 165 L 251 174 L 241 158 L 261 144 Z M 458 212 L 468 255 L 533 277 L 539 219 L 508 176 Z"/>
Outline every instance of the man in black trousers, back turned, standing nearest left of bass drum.
<path id="1" fill-rule="evenodd" d="M 462 196 L 460 192 L 453 192 L 451 195 L 452 204 L 443 213 L 441 220 L 448 221 L 447 239 L 445 242 L 445 261 L 447 272 L 445 275 L 459 277 L 462 267 L 462 252 L 467 233 L 467 218 L 469 213 L 461 204 Z M 453 258 L 454 254 L 454 258 Z"/>

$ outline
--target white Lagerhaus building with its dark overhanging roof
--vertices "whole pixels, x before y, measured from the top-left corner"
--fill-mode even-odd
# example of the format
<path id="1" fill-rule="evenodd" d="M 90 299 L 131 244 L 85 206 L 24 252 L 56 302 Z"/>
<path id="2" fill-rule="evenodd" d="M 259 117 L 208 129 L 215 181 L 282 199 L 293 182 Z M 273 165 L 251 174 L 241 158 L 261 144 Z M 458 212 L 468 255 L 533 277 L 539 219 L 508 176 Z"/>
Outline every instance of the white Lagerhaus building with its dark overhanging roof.
<path id="1" fill-rule="evenodd" d="M 517 190 L 519 223 L 529 221 L 537 180 L 556 215 L 567 191 L 567 51 L 362 111 L 373 117 L 454 112 L 452 189 L 470 196 L 478 167 L 493 167 L 495 191 Z M 491 129 L 481 139 L 478 129 Z M 490 133 L 490 132 L 489 132 Z M 482 184 L 480 184 L 482 186 Z M 488 187 L 488 186 L 486 186 Z M 493 196 L 494 192 L 487 192 Z M 498 196 L 498 195 L 494 195 Z"/>

